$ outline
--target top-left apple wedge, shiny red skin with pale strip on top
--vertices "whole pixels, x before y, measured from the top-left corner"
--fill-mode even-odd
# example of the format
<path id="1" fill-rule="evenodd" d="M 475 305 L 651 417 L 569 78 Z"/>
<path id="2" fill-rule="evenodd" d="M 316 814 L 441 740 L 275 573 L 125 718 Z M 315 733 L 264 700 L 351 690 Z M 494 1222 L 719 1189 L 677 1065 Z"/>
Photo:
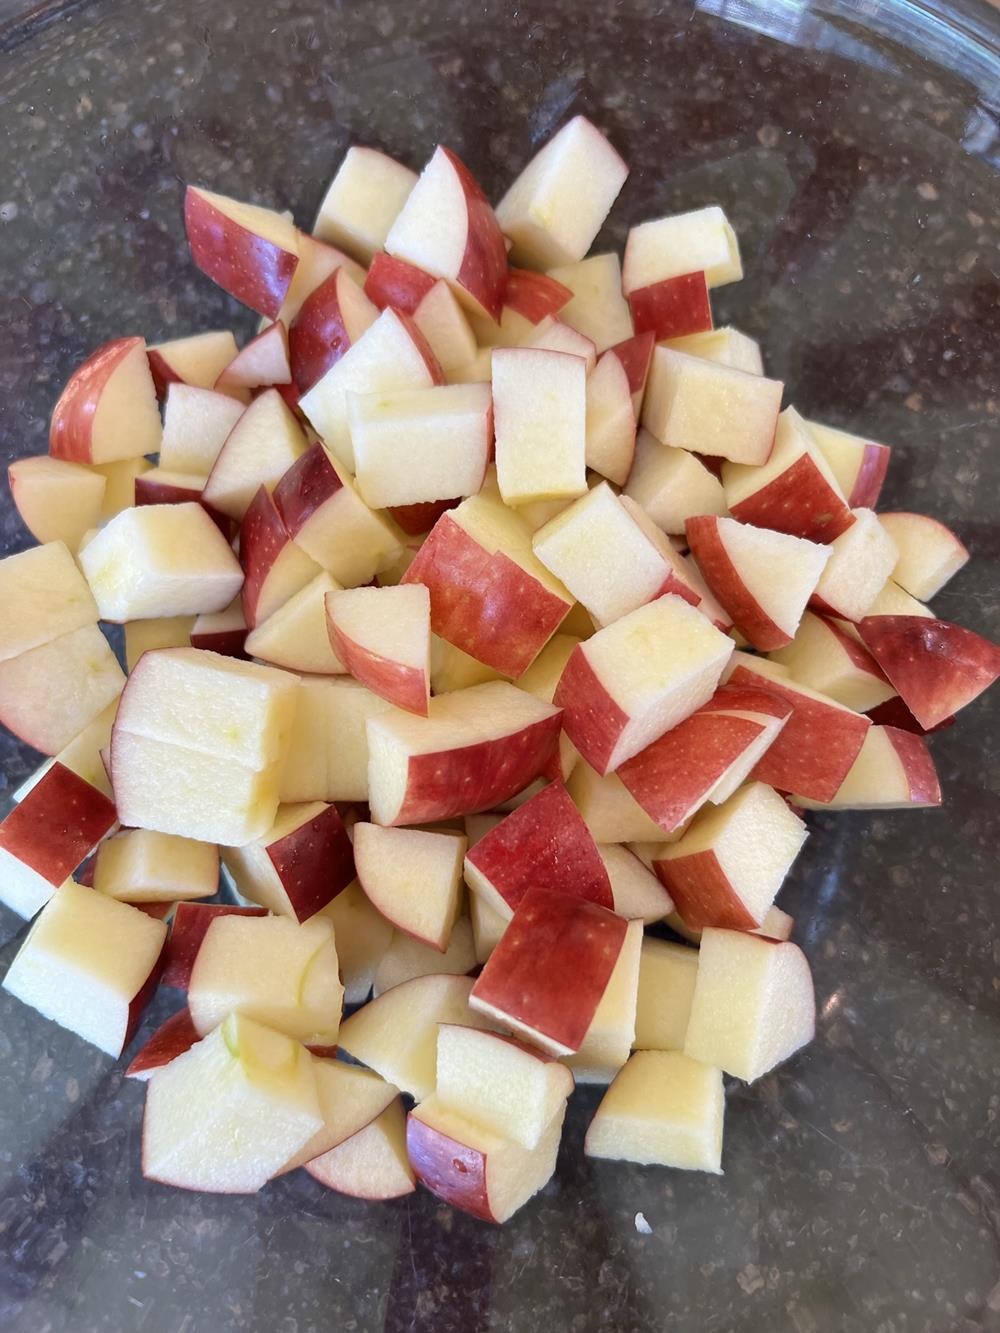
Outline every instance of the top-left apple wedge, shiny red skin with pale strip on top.
<path id="1" fill-rule="evenodd" d="M 277 317 L 299 264 L 295 223 L 269 208 L 188 185 L 184 227 L 203 273 L 257 315 Z"/>

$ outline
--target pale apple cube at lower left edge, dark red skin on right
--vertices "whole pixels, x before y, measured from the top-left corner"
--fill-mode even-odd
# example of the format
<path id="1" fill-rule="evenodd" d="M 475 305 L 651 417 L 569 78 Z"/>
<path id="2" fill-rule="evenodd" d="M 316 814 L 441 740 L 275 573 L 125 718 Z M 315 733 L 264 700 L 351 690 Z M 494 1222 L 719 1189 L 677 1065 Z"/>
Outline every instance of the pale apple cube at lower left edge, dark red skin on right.
<path id="1" fill-rule="evenodd" d="M 67 880 L 41 909 L 3 985 L 117 1058 L 156 986 L 165 938 L 163 921 Z"/>

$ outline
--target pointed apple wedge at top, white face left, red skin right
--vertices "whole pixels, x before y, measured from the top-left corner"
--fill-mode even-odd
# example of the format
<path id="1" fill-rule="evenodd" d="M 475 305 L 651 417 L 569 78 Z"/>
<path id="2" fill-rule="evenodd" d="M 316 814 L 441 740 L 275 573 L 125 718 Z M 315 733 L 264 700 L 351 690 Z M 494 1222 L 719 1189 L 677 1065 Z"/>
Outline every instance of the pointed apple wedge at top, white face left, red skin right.
<path id="1" fill-rule="evenodd" d="M 475 313 L 497 320 L 507 284 L 507 247 L 489 200 L 468 167 L 437 147 L 409 193 L 385 251 L 447 279 Z"/>

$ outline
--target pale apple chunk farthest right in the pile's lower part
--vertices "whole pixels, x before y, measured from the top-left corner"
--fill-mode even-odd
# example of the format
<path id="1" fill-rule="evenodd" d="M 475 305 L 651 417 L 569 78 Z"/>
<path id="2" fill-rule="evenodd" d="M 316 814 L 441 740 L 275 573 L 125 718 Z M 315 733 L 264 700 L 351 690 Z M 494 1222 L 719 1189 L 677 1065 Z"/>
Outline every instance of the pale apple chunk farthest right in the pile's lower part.
<path id="1" fill-rule="evenodd" d="M 687 1056 L 753 1082 L 812 1041 L 815 1030 L 812 974 L 797 945 L 703 930 Z"/>

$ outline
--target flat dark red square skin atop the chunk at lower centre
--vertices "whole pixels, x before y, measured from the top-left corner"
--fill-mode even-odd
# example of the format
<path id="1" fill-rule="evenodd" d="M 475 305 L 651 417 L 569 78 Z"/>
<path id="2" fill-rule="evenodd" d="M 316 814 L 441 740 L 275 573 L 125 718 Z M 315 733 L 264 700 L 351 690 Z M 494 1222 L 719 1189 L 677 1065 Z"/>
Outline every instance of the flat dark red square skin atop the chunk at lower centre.
<path id="1" fill-rule="evenodd" d="M 627 925 L 596 902 L 528 889 L 471 998 L 567 1050 L 579 1050 L 608 988 Z"/>

